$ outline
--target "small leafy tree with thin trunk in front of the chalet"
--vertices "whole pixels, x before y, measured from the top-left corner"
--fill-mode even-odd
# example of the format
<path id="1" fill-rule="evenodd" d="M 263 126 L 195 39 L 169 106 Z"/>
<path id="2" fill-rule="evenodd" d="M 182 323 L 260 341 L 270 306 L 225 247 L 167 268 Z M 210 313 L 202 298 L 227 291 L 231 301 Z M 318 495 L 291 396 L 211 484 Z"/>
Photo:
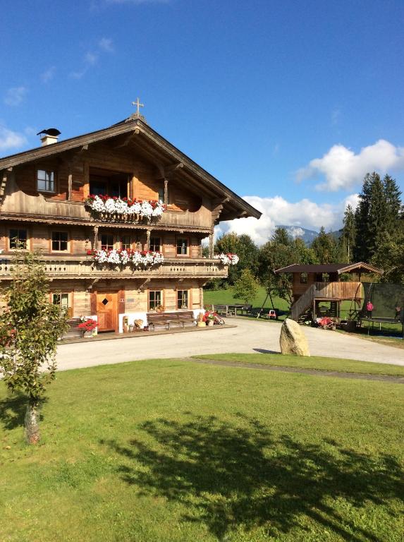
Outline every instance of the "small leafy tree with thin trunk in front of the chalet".
<path id="1" fill-rule="evenodd" d="M 39 441 L 39 404 L 55 378 L 56 346 L 67 329 L 66 313 L 49 303 L 47 281 L 39 255 L 17 253 L 11 285 L 0 316 L 0 371 L 11 392 L 27 395 L 25 436 Z"/>

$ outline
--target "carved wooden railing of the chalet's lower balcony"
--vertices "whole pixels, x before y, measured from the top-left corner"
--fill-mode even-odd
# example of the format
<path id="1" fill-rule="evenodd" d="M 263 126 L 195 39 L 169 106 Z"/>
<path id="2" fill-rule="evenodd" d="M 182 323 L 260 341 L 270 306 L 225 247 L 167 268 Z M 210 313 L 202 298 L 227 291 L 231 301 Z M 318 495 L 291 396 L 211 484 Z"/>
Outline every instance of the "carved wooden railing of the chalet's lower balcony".
<path id="1" fill-rule="evenodd" d="M 99 265 L 89 256 L 83 258 L 43 257 L 47 276 L 51 279 L 211 279 L 227 277 L 227 266 L 218 260 L 192 258 L 178 260 L 166 258 L 164 263 L 143 269 L 132 265 Z M 12 260 L 0 259 L 0 281 L 10 279 Z"/>

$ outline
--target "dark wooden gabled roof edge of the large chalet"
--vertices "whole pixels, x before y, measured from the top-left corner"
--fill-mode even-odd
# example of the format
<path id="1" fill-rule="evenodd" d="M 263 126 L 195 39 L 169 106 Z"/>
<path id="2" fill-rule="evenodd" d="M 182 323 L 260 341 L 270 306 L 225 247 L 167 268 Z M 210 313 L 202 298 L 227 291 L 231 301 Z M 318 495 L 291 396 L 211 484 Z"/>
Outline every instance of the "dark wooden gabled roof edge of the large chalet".
<path id="1" fill-rule="evenodd" d="M 19 152 L 16 155 L 1 158 L 0 171 L 20 164 L 26 164 L 27 162 L 32 162 L 34 160 L 58 155 L 61 152 L 85 147 L 86 145 L 91 145 L 92 143 L 97 143 L 99 141 L 116 138 L 119 135 L 130 135 L 130 133 L 133 133 L 133 135 L 136 134 L 137 137 L 144 138 L 145 143 L 154 147 L 166 161 L 169 160 L 172 164 L 181 164 L 184 174 L 190 174 L 191 176 L 196 176 L 200 179 L 203 185 L 211 190 L 216 195 L 216 198 L 223 203 L 224 213 L 221 217 L 222 219 L 227 219 L 226 214 L 228 214 L 229 217 L 232 215 L 232 218 L 238 216 L 259 218 L 262 215 L 255 207 L 252 207 L 252 205 L 243 200 L 243 198 L 240 198 L 239 195 L 231 191 L 230 188 L 221 183 L 216 177 L 205 171 L 196 162 L 174 147 L 174 145 L 169 143 L 169 141 L 163 138 L 159 133 L 154 131 L 153 128 L 150 128 L 150 126 L 140 118 L 128 119 L 127 121 L 114 124 L 109 128 L 103 128 L 102 130 L 78 135 L 75 138 L 66 139 L 59 143 L 52 143 L 51 145 L 45 145 L 44 147 L 36 147 L 31 150 Z"/>

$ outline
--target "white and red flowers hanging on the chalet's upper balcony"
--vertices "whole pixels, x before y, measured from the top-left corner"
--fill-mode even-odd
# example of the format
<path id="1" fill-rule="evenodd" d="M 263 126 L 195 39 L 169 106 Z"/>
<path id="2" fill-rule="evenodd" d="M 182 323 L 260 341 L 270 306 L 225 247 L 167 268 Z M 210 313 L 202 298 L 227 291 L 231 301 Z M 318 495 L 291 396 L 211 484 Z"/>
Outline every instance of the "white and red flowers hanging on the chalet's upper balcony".
<path id="1" fill-rule="evenodd" d="M 109 195 L 89 195 L 85 207 L 93 217 L 105 222 L 141 222 L 146 219 L 159 219 L 166 205 L 157 200 L 137 200 L 131 198 L 111 198 Z"/>

